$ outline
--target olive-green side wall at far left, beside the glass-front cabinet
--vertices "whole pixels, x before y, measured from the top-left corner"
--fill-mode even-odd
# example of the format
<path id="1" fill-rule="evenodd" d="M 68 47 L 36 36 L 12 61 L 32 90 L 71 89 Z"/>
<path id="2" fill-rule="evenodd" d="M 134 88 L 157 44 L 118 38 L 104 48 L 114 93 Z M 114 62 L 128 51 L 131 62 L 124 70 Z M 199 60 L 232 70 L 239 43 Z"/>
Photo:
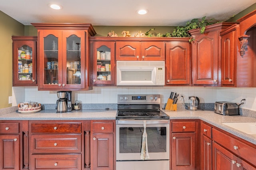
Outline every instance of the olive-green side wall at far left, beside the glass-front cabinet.
<path id="1" fill-rule="evenodd" d="M 12 96 L 12 36 L 24 36 L 24 25 L 0 11 L 0 109 L 12 106 L 8 104 Z"/>

